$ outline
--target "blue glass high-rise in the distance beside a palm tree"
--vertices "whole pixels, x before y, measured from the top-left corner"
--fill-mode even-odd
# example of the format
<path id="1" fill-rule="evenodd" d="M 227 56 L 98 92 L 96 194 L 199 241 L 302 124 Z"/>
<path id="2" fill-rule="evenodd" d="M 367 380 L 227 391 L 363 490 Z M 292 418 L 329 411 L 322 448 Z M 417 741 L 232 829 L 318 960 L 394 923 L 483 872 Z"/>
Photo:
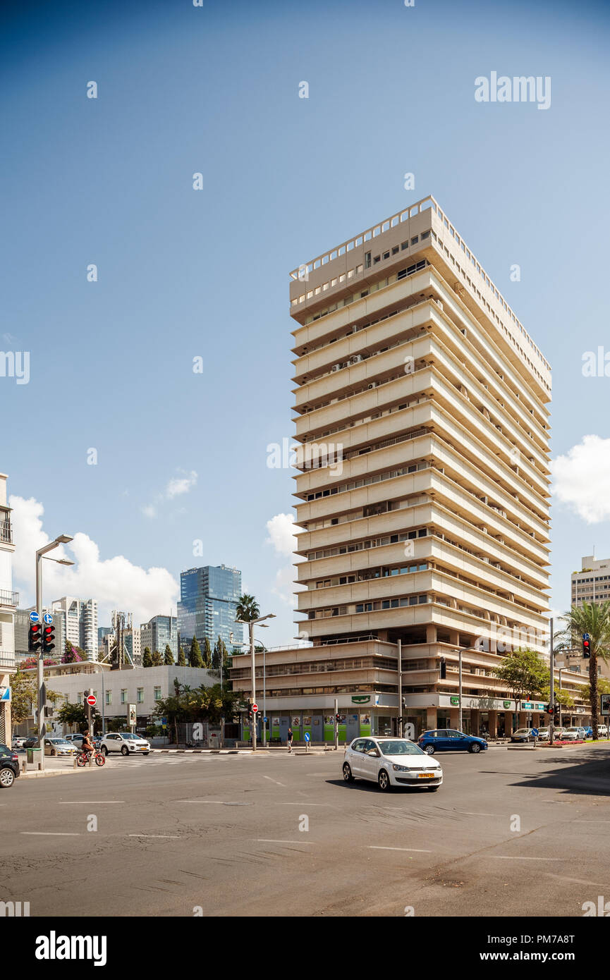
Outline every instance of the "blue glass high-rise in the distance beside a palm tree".
<path id="1" fill-rule="evenodd" d="M 231 633 L 233 643 L 240 643 L 242 627 L 234 622 L 240 596 L 241 572 L 237 568 L 220 564 L 182 571 L 178 603 L 180 646 L 188 652 L 196 636 L 200 644 L 207 637 L 214 648 L 220 636 L 230 650 Z"/>

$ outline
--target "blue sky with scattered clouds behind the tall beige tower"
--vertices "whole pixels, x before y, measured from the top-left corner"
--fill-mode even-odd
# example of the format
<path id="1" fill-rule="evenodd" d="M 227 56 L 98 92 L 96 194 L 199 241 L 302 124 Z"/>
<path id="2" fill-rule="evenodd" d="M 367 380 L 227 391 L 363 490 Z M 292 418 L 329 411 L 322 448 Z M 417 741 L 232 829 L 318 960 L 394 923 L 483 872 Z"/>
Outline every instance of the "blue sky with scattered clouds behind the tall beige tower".
<path id="1" fill-rule="evenodd" d="M 0 377 L 0 471 L 33 499 L 24 601 L 31 546 L 78 533 L 81 567 L 49 571 L 48 598 L 97 588 L 143 621 L 181 569 L 232 564 L 278 614 L 267 642 L 290 639 L 285 525 L 277 547 L 267 526 L 291 513 L 290 470 L 267 466 L 293 432 L 288 271 L 432 193 L 553 368 L 553 455 L 573 454 L 552 509 L 564 609 L 581 556 L 610 556 L 610 381 L 582 372 L 610 349 L 607 6 L 58 0 L 1 17 L 0 349 L 30 352 L 30 380 Z M 549 75 L 550 108 L 477 103 L 491 71 Z"/>

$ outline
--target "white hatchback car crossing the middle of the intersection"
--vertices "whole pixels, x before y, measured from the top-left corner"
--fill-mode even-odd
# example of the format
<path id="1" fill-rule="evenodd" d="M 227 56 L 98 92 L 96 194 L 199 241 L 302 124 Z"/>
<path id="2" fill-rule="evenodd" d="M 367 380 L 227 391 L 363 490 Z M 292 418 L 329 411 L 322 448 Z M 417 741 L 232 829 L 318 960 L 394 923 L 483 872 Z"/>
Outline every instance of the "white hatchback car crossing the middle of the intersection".
<path id="1" fill-rule="evenodd" d="M 343 779 L 370 779 L 381 790 L 392 786 L 425 786 L 437 790 L 442 783 L 440 762 L 406 738 L 357 738 L 345 747 Z"/>

